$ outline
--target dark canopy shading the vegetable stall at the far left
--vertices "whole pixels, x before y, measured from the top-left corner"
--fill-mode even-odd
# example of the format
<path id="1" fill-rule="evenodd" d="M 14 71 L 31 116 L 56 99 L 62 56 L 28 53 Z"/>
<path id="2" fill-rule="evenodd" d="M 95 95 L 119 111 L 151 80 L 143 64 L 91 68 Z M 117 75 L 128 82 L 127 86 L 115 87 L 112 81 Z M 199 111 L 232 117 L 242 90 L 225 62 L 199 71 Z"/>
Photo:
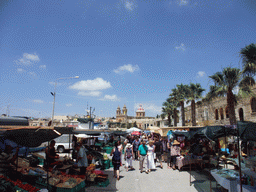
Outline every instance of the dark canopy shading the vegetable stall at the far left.
<path id="1" fill-rule="evenodd" d="M 38 147 L 44 142 L 61 136 L 61 134 L 53 128 L 41 127 L 0 129 L 0 135 L 3 139 L 9 139 L 17 145 L 24 147 Z"/>

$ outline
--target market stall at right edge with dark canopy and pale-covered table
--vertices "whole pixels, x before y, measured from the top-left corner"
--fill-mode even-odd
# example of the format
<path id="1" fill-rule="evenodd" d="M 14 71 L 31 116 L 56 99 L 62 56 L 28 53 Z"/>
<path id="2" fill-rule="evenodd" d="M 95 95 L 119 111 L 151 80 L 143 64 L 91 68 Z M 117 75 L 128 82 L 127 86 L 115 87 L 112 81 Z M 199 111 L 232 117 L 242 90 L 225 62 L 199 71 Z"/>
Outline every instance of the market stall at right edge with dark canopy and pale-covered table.
<path id="1" fill-rule="evenodd" d="M 231 192 L 237 191 L 256 191 L 256 157 L 241 157 L 240 140 L 242 141 L 256 141 L 256 124 L 251 122 L 238 122 L 237 127 L 228 127 L 229 133 L 237 134 L 237 145 L 238 145 L 238 158 L 229 159 L 236 162 L 239 170 L 231 169 L 216 169 L 211 171 L 211 175 L 215 180 L 225 189 Z M 233 134 L 232 133 L 232 134 Z"/>

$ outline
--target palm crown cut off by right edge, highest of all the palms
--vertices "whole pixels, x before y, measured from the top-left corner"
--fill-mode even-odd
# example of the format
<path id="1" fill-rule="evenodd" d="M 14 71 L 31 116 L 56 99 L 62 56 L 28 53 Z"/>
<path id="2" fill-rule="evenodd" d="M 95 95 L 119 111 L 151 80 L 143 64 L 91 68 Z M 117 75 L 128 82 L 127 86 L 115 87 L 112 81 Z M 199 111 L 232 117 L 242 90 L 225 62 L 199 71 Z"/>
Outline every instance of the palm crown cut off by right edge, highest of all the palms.
<path id="1" fill-rule="evenodd" d="M 256 74 L 256 44 L 252 43 L 241 49 L 240 55 L 243 61 L 243 74 L 253 77 Z"/>

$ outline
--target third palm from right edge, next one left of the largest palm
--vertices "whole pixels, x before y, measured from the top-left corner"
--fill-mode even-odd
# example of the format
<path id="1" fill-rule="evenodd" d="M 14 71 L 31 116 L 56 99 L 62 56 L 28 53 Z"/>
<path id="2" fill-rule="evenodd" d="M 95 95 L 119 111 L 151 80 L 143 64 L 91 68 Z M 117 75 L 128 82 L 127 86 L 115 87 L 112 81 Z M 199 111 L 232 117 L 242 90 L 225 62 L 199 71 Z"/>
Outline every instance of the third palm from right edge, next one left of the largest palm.
<path id="1" fill-rule="evenodd" d="M 191 101 L 191 120 L 192 126 L 196 126 L 196 103 L 197 99 L 202 98 L 202 93 L 205 91 L 199 83 L 190 83 L 188 90 L 188 101 Z"/>

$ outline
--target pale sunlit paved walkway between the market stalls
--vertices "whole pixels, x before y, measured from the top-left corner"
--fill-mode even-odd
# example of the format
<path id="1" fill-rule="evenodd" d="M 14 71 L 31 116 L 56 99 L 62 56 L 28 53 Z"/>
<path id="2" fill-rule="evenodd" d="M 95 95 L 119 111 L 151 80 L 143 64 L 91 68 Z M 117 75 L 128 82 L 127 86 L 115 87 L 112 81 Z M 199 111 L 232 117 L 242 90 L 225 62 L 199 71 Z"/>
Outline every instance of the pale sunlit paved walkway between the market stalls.
<path id="1" fill-rule="evenodd" d="M 158 165 L 158 164 L 157 164 Z M 167 169 L 166 163 L 164 168 L 157 167 L 156 170 L 149 174 L 140 173 L 139 162 L 134 161 L 133 171 L 128 171 L 122 166 L 120 168 L 120 180 L 113 178 L 113 168 L 105 170 L 109 174 L 110 184 L 108 187 L 90 186 L 86 191 L 122 191 L 122 192 L 151 192 L 151 191 L 171 191 L 171 192 L 207 192 L 210 191 L 209 176 L 203 172 L 192 172 L 192 183 L 189 183 L 189 172 Z M 215 183 L 213 186 L 215 187 Z M 215 188 L 212 191 L 217 191 Z"/>

